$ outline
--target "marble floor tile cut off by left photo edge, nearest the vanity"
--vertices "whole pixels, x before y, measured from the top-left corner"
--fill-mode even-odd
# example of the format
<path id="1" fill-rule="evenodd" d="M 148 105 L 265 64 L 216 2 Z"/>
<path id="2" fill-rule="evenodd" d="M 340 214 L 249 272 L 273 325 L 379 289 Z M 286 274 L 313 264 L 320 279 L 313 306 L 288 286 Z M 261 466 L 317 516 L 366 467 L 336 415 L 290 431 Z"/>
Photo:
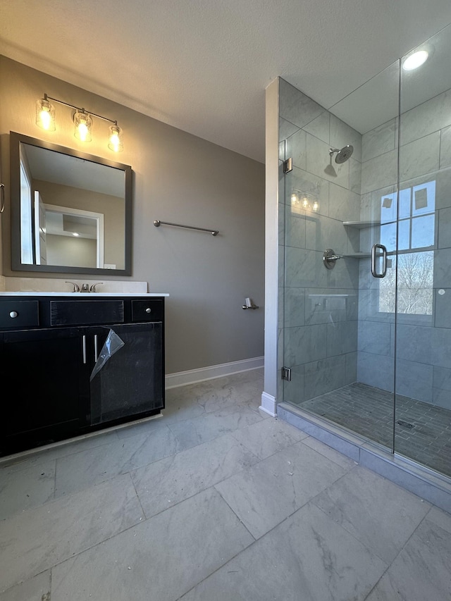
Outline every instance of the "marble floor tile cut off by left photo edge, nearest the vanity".
<path id="1" fill-rule="evenodd" d="M 0 520 L 53 499 L 55 461 L 20 471 L 0 469 Z"/>

